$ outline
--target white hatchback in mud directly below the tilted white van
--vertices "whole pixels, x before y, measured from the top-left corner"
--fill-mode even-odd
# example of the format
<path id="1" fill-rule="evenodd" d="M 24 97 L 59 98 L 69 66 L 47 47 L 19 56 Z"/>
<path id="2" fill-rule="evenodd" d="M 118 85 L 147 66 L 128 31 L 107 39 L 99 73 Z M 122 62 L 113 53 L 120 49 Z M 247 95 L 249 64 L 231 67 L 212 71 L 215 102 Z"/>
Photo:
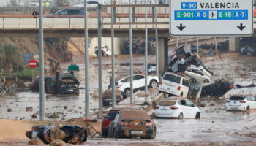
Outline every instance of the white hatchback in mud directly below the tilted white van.
<path id="1" fill-rule="evenodd" d="M 200 118 L 200 111 L 192 101 L 176 96 L 159 101 L 155 113 L 157 118 Z"/>

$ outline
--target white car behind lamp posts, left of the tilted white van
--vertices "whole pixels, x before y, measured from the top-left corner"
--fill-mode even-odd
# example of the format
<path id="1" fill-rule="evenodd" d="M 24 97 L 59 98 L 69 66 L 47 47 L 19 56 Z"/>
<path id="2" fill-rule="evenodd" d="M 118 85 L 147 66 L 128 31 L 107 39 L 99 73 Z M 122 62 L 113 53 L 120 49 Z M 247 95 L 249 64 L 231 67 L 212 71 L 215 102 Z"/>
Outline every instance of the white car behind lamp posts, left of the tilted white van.
<path id="1" fill-rule="evenodd" d="M 151 88 L 157 88 L 159 82 L 159 77 L 156 75 L 148 76 L 148 85 Z M 115 82 L 116 88 L 121 91 L 124 97 L 129 96 L 130 91 L 130 77 L 124 77 L 121 80 Z M 138 90 L 140 88 L 145 88 L 145 76 L 141 74 L 133 75 L 133 90 Z"/>

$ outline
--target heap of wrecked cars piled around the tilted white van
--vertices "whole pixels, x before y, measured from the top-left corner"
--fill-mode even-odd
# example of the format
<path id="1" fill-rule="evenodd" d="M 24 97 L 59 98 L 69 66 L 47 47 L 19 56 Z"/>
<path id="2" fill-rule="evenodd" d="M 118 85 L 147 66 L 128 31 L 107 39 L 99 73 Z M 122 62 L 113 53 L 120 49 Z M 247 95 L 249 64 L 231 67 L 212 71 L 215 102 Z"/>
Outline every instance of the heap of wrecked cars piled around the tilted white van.
<path id="1" fill-rule="evenodd" d="M 214 73 L 202 64 L 194 55 L 184 51 L 184 47 L 176 48 L 176 54 L 162 77 L 159 92 L 168 96 L 181 96 L 189 99 L 199 99 L 200 96 L 222 96 L 233 88 L 227 80 L 211 81 Z"/>

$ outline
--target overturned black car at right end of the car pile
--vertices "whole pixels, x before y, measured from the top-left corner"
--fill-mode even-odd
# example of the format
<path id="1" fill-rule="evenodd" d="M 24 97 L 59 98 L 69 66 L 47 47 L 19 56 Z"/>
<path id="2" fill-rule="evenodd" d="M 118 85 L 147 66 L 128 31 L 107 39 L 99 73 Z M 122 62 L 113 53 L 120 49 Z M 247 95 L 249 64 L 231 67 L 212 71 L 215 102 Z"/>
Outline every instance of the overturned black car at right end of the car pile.
<path id="1" fill-rule="evenodd" d="M 215 82 L 203 85 L 201 97 L 211 96 L 218 97 L 223 96 L 227 91 L 233 88 L 233 84 L 227 80 L 216 80 Z"/>

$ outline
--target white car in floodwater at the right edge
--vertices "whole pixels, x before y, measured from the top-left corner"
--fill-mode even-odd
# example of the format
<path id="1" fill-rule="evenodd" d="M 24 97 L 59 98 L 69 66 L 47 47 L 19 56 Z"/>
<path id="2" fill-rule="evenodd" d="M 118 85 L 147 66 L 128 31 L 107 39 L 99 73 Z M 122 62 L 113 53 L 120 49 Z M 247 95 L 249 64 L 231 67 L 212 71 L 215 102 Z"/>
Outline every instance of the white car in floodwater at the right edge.
<path id="1" fill-rule="evenodd" d="M 253 96 L 231 96 L 225 104 L 226 110 L 248 111 L 256 109 L 256 101 Z"/>

